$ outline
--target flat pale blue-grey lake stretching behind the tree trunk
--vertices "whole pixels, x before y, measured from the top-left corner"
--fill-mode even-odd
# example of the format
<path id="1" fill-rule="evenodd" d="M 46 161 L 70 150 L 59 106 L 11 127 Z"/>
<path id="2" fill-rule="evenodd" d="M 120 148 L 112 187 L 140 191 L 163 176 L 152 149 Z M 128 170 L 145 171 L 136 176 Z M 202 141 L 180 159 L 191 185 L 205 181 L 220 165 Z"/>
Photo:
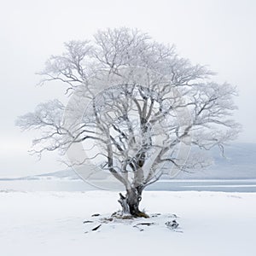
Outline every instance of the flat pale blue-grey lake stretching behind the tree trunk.
<path id="1" fill-rule="evenodd" d="M 102 185 L 102 187 L 104 187 Z M 0 190 L 19 191 L 88 191 L 96 188 L 82 180 L 38 179 L 38 180 L 0 180 Z M 113 189 L 115 190 L 115 189 Z M 119 190 L 119 189 L 116 189 Z M 148 186 L 156 191 L 219 191 L 256 192 L 256 179 L 234 180 L 161 180 Z"/>

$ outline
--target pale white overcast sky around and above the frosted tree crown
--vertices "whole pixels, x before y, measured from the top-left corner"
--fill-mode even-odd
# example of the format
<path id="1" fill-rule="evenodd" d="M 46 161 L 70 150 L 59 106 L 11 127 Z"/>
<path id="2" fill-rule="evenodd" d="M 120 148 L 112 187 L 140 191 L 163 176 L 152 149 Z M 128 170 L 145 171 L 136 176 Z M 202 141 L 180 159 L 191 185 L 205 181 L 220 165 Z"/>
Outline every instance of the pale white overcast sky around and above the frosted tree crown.
<path id="1" fill-rule="evenodd" d="M 236 84 L 240 142 L 256 143 L 256 1 L 249 0 L 9 0 L 0 10 L 0 177 L 53 172 L 65 166 L 47 154 L 36 162 L 26 150 L 29 133 L 18 115 L 58 97 L 60 86 L 37 87 L 36 72 L 63 42 L 91 38 L 97 29 L 129 26 L 155 40 L 176 44 L 193 63 L 207 64 L 216 80 Z"/>

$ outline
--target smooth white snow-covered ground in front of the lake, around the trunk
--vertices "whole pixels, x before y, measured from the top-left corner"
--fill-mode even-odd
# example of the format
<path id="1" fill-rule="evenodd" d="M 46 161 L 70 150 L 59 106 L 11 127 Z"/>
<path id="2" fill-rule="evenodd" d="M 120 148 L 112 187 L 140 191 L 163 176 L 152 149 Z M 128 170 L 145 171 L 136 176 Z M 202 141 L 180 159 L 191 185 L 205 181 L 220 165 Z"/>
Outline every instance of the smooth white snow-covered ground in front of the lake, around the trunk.
<path id="1" fill-rule="evenodd" d="M 39 255 L 256 255 L 256 194 L 146 191 L 142 208 L 157 218 L 133 227 L 131 220 L 83 224 L 93 213 L 118 210 L 112 191 L 0 193 L 0 253 Z M 177 230 L 164 225 L 177 215 Z M 97 217 L 99 218 L 99 217 Z M 130 221 L 130 224 L 129 224 Z"/>

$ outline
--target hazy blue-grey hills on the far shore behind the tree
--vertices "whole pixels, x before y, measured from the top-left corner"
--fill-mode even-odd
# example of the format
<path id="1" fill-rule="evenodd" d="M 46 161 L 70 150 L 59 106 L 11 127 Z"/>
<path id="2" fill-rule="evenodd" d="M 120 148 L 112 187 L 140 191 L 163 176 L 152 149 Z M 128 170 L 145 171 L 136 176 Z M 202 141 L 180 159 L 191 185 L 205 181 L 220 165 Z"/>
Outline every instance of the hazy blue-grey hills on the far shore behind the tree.
<path id="1" fill-rule="evenodd" d="M 204 170 L 194 170 L 193 173 L 180 172 L 177 179 L 241 179 L 256 178 L 256 144 L 255 143 L 233 143 L 224 150 L 224 157 L 218 148 L 209 151 L 214 163 Z M 10 179 L 79 179 L 79 175 L 73 169 L 61 170 L 58 172 L 44 173 L 29 177 L 1 178 Z M 167 177 L 164 177 L 167 178 Z"/>

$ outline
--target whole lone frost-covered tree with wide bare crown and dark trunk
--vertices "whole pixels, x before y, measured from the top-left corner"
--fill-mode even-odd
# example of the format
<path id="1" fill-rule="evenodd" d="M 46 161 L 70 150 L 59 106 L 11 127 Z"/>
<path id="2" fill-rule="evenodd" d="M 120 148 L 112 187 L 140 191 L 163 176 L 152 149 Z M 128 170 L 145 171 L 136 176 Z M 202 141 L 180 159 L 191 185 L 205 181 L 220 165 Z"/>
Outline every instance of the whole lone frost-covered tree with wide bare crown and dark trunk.
<path id="1" fill-rule="evenodd" d="M 235 87 L 212 82 L 207 67 L 138 30 L 108 29 L 92 41 L 70 41 L 40 74 L 42 84 L 67 85 L 69 101 L 41 103 L 17 120 L 23 130 L 42 132 L 33 153 L 69 151 L 71 166 L 93 160 L 123 184 L 119 203 L 134 217 L 147 217 L 139 202 L 148 184 L 170 170 L 204 166 L 194 148 L 222 148 L 240 130 L 230 119 Z"/>

